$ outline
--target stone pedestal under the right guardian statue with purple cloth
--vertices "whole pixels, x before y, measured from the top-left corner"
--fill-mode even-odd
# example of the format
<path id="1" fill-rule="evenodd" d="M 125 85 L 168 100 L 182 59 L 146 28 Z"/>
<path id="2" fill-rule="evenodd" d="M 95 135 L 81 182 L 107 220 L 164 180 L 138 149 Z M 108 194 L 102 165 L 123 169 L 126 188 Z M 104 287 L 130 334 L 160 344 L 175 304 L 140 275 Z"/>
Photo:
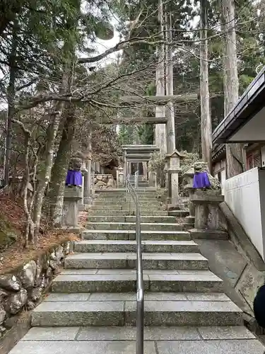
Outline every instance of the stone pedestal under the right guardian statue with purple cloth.
<path id="1" fill-rule="evenodd" d="M 195 207 L 195 224 L 191 233 L 196 238 L 227 239 L 227 224 L 219 204 L 220 190 L 195 189 L 190 197 Z"/>

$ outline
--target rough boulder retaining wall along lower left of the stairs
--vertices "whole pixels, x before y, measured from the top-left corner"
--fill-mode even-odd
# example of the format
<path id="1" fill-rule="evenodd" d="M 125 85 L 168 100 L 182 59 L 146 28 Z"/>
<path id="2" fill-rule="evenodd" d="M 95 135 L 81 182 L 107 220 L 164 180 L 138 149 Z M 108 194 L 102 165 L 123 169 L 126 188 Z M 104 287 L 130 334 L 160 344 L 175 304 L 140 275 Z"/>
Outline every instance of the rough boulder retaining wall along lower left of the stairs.
<path id="1" fill-rule="evenodd" d="M 13 318 L 21 310 L 31 310 L 37 306 L 71 247 L 71 241 L 67 241 L 11 273 L 0 274 L 0 337 L 16 323 Z"/>

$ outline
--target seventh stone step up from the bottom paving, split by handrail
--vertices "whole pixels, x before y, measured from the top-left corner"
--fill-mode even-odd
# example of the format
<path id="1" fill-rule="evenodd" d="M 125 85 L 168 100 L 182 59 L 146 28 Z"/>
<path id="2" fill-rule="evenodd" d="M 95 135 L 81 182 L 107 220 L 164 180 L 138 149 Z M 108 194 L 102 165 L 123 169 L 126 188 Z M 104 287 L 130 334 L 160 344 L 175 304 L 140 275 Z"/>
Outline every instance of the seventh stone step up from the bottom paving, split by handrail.
<path id="1" fill-rule="evenodd" d="M 95 215 L 95 216 L 88 216 L 89 222 L 135 222 L 135 216 L 110 216 L 110 215 Z M 174 223 L 176 222 L 175 217 L 165 216 L 150 216 L 141 215 L 141 222 L 151 222 L 153 223 Z"/>

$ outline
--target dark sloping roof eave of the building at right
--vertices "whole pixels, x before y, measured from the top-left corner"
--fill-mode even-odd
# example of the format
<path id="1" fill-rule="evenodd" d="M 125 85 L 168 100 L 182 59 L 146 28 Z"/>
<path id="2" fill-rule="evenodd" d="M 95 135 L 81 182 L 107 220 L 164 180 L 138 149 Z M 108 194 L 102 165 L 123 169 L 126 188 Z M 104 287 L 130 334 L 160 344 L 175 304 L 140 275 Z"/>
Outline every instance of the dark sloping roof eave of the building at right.
<path id="1" fill-rule="evenodd" d="M 213 131 L 213 144 L 224 142 L 240 142 L 240 138 L 235 138 L 238 130 L 249 122 L 262 108 L 265 107 L 265 67 L 256 76 L 252 83 L 247 87 L 236 105 L 230 110 L 230 113 L 220 122 Z M 263 115 L 259 116 L 259 120 Z M 249 137 L 249 142 L 252 138 Z M 264 135 L 265 139 L 265 135 Z M 245 142 L 246 139 L 242 139 Z M 259 140 L 260 141 L 260 140 Z"/>

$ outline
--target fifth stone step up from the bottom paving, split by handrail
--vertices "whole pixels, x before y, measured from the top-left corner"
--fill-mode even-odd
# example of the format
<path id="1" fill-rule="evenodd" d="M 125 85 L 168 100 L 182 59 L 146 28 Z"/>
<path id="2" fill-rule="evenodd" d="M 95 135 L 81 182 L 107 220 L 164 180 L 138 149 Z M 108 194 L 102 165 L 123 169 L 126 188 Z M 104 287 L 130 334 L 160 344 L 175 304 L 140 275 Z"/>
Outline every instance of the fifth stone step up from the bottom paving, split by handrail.
<path id="1" fill-rule="evenodd" d="M 85 230 L 81 234 L 82 239 L 93 240 L 134 240 L 135 230 Z M 187 231 L 146 231 L 141 230 L 141 239 L 144 240 L 190 240 Z"/>

